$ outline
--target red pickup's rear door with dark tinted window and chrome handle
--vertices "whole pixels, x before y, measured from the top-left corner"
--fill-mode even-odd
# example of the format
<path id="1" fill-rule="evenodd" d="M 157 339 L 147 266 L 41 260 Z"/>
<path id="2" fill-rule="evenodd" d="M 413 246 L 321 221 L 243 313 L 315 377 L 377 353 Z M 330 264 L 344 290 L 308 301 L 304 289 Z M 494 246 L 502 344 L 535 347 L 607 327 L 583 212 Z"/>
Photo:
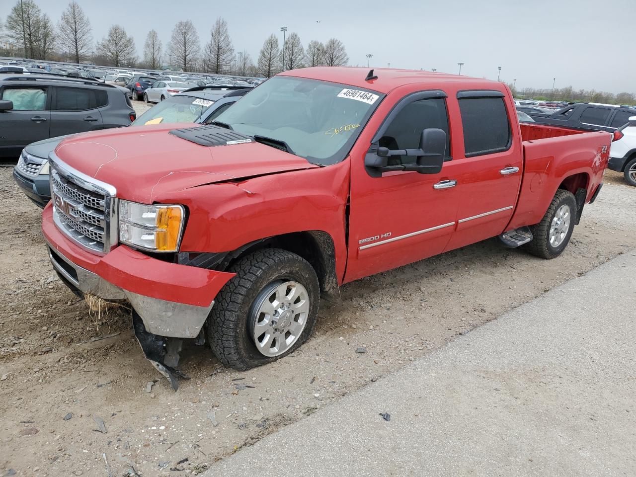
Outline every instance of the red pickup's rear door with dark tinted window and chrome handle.
<path id="1" fill-rule="evenodd" d="M 504 232 L 515 209 L 522 177 L 522 149 L 514 106 L 499 91 L 460 91 L 464 149 L 453 161 L 462 167 L 457 228 L 445 250 Z M 513 121 L 515 121 L 513 123 Z"/>

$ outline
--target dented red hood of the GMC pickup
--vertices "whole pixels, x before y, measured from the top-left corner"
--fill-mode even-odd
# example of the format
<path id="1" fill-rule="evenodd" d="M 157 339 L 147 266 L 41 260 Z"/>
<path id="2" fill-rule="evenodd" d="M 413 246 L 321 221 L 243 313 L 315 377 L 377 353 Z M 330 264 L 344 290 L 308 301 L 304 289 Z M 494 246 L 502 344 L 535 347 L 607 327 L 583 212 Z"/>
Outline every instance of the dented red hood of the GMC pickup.
<path id="1" fill-rule="evenodd" d="M 201 146 L 169 134 L 191 123 L 76 134 L 55 154 L 84 174 L 113 185 L 118 197 L 149 204 L 202 184 L 319 167 L 279 149 L 247 142 Z"/>

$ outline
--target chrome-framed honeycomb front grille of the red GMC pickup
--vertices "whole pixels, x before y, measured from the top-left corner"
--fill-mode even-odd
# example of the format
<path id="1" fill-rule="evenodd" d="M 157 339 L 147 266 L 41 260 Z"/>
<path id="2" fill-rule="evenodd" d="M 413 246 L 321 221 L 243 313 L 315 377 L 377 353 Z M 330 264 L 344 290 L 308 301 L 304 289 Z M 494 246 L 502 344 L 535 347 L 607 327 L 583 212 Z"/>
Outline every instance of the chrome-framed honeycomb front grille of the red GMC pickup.
<path id="1" fill-rule="evenodd" d="M 50 177 L 55 224 L 84 248 L 107 253 L 114 245 L 110 223 L 116 199 L 97 193 L 95 190 L 100 189 L 97 181 L 90 183 L 58 164 L 59 160 L 52 162 Z"/>

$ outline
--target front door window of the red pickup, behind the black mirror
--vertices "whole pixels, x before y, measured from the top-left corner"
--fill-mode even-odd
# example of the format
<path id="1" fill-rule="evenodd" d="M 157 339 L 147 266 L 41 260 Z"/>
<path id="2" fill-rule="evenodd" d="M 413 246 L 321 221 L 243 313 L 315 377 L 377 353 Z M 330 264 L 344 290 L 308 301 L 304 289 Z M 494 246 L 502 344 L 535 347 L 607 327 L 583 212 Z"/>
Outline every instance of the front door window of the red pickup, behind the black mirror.
<path id="1" fill-rule="evenodd" d="M 446 101 L 441 98 L 420 99 L 404 106 L 380 137 L 379 145 L 389 149 L 418 149 L 422 131 L 439 128 L 446 132 L 445 157 L 450 158 L 450 134 Z M 389 165 L 415 163 L 415 156 L 391 156 Z"/>

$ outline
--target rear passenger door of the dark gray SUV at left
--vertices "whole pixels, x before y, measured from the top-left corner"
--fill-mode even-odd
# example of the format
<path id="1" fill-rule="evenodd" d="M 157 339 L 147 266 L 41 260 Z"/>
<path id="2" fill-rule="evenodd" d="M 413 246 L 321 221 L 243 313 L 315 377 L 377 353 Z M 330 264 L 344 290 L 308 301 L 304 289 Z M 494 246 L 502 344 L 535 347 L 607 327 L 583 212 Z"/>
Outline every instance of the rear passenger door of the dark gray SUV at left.
<path id="1" fill-rule="evenodd" d="M 51 137 L 92 131 L 104 126 L 97 109 L 97 96 L 104 102 L 106 92 L 88 88 L 54 86 L 51 111 Z"/>

